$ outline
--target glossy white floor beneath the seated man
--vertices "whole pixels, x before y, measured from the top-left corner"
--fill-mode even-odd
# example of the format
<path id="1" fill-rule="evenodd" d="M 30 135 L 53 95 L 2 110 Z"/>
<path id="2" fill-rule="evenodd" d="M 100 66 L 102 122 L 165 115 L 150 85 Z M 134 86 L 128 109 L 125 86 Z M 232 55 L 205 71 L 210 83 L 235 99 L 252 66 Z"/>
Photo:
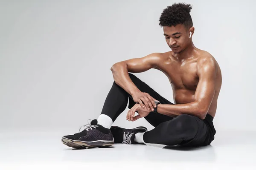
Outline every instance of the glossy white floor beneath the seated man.
<path id="1" fill-rule="evenodd" d="M 69 133 L 67 133 L 69 134 Z M 256 169 L 256 132 L 218 131 L 211 145 L 198 148 L 114 144 L 73 149 L 55 132 L 0 133 L 0 170 L 6 169 Z"/>

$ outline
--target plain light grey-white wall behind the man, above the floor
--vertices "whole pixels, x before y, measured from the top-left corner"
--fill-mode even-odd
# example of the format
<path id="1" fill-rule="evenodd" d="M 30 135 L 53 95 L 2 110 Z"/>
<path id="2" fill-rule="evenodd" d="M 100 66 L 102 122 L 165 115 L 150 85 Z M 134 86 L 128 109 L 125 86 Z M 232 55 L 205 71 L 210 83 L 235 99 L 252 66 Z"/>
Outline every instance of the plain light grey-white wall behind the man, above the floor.
<path id="1" fill-rule="evenodd" d="M 175 2 L 0 1 L 0 131 L 76 133 L 87 119 L 97 119 L 114 63 L 170 51 L 158 20 Z M 192 4 L 195 46 L 212 54 L 222 71 L 217 133 L 256 130 L 255 1 L 186 3 Z M 153 69 L 135 75 L 173 102 L 166 75 Z M 152 128 L 145 119 L 128 122 L 127 111 L 114 125 Z"/>

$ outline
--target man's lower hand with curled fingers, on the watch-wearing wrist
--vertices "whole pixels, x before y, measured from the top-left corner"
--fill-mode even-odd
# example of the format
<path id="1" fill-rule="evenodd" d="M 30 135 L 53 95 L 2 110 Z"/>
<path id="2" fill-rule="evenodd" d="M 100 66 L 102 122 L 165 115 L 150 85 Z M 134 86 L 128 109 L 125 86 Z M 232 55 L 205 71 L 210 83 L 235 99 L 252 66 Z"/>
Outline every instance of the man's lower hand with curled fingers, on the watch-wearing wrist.
<path id="1" fill-rule="evenodd" d="M 135 112 L 138 111 L 138 115 L 134 117 L 134 114 Z M 151 111 L 146 108 L 142 108 L 140 106 L 140 104 L 136 103 L 127 113 L 126 115 L 126 120 L 128 121 L 135 121 L 137 119 L 140 119 L 142 117 L 145 117 L 145 116 L 148 116 L 148 114 L 150 113 Z"/>

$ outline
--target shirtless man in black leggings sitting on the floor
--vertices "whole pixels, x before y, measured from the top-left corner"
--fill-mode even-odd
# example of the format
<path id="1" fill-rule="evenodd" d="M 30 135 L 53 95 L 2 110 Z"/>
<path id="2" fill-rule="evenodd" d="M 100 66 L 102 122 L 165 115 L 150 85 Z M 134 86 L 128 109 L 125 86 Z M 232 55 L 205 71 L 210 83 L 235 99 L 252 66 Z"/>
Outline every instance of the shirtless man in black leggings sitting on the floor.
<path id="1" fill-rule="evenodd" d="M 115 63 L 111 67 L 114 82 L 99 118 L 85 125 L 85 130 L 63 136 L 64 144 L 70 147 L 107 147 L 114 143 L 206 146 L 212 142 L 221 70 L 211 54 L 196 48 L 192 42 L 195 28 L 189 14 L 191 9 L 189 4 L 174 3 L 163 10 L 159 25 L 172 51 Z M 175 104 L 131 74 L 150 68 L 162 71 L 169 78 Z M 142 126 L 111 127 L 127 103 L 128 121 L 144 117 L 155 128 L 147 131 Z"/>

